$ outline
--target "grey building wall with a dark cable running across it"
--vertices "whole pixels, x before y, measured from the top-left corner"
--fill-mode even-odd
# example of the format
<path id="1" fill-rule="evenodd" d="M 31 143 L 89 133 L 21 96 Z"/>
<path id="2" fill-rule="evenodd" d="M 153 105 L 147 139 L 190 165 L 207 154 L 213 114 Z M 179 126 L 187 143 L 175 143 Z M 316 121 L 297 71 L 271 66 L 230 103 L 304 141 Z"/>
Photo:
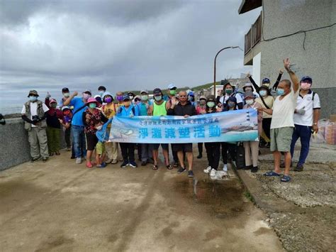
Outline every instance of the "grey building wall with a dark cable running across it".
<path id="1" fill-rule="evenodd" d="M 264 0 L 264 39 L 296 31 L 327 26 L 336 21 L 336 1 L 332 0 Z M 336 113 L 336 26 L 278 38 L 261 43 L 261 76 L 276 80 L 282 60 L 289 57 L 298 75 L 313 78 L 313 89 L 320 94 L 322 117 Z M 289 75 L 284 74 L 284 79 Z M 335 100 L 335 99 L 332 99 Z"/>

